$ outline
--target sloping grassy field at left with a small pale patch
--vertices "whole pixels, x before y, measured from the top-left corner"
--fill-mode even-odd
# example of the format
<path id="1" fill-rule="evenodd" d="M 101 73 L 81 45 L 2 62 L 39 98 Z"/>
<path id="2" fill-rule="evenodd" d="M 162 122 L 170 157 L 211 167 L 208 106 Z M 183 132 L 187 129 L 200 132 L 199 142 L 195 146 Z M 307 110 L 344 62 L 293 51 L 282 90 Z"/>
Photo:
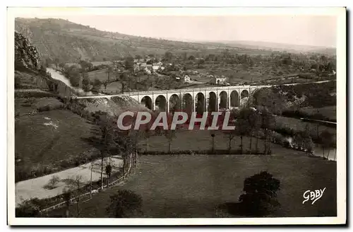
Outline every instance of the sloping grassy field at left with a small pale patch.
<path id="1" fill-rule="evenodd" d="M 52 166 L 59 161 L 87 151 L 83 138 L 90 137 L 92 124 L 68 110 L 50 110 L 24 115 L 15 120 L 16 172 L 38 166 Z"/>

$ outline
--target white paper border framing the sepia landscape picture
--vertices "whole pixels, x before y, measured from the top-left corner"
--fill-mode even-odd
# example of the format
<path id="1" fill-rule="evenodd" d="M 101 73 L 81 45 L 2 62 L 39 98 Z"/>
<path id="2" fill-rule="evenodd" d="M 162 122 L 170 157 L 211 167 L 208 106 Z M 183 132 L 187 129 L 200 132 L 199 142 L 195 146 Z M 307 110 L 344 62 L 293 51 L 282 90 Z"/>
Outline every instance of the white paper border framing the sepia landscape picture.
<path id="1" fill-rule="evenodd" d="M 14 176 L 8 175 L 10 225 L 239 225 L 239 224 L 345 224 L 346 222 L 346 12 L 345 8 L 8 8 L 8 173 L 14 173 L 13 47 L 14 18 L 59 18 L 65 15 L 330 15 L 337 16 L 337 217 L 260 219 L 25 219 L 15 218 Z"/>

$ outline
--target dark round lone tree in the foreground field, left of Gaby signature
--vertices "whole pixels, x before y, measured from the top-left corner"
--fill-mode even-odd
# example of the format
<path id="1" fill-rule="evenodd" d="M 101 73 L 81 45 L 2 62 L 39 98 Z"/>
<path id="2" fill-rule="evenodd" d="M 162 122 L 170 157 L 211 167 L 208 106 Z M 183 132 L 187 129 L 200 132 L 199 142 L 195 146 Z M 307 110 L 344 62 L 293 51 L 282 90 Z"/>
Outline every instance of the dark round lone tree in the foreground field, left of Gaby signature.
<path id="1" fill-rule="evenodd" d="M 263 171 L 244 180 L 243 191 L 240 195 L 240 209 L 248 216 L 264 216 L 277 207 L 277 191 L 280 190 L 280 180 Z"/>

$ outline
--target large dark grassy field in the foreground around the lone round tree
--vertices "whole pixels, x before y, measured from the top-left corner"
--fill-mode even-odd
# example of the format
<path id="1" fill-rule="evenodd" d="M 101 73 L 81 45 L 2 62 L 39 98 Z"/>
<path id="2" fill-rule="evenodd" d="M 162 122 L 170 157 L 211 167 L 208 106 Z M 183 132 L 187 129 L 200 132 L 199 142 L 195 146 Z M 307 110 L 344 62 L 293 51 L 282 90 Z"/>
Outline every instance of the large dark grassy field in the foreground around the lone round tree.
<path id="1" fill-rule="evenodd" d="M 80 204 L 80 217 L 107 217 L 109 196 L 133 190 L 143 198 L 140 217 L 216 217 L 215 207 L 237 202 L 244 179 L 268 170 L 280 180 L 280 207 L 269 216 L 336 216 L 336 163 L 278 148 L 273 156 L 141 156 L 137 172 Z M 315 204 L 302 204 L 306 190 L 326 190 Z M 71 206 L 76 216 L 76 205 Z M 52 211 L 63 215 L 64 209 Z M 239 217 L 239 215 L 227 215 Z"/>

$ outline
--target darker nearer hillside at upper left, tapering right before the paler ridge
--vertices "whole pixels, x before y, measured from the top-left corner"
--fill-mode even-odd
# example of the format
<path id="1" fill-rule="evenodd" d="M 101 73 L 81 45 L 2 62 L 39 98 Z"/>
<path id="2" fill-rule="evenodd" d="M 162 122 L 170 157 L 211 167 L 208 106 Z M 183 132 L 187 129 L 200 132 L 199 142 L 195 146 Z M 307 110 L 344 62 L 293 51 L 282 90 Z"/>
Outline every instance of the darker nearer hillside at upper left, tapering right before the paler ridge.
<path id="1" fill-rule="evenodd" d="M 109 33 L 54 18 L 16 18 L 15 28 L 37 47 L 42 59 L 102 61 L 127 54 L 164 54 L 167 50 L 198 52 L 206 45 Z"/>

